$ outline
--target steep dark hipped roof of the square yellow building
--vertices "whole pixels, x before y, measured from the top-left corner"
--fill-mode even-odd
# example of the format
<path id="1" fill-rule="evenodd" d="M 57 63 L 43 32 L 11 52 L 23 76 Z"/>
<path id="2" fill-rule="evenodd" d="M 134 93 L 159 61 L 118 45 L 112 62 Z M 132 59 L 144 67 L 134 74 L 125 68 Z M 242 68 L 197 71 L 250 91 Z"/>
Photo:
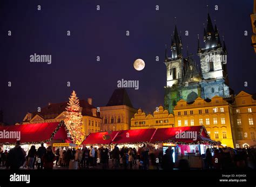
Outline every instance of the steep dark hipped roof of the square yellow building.
<path id="1" fill-rule="evenodd" d="M 106 106 L 118 106 L 118 105 L 126 105 L 133 108 L 131 100 L 124 88 L 114 90 L 111 98 L 109 99 L 109 102 L 106 104 Z"/>

